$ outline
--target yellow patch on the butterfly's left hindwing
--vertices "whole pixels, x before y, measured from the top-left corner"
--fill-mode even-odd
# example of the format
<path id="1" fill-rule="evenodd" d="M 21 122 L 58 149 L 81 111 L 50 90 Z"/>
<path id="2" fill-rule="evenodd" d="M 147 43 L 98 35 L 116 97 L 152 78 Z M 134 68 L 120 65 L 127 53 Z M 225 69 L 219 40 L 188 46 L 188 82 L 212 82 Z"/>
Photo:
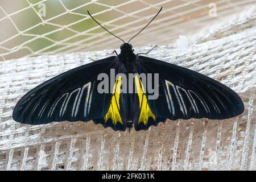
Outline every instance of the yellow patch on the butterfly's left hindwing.
<path id="1" fill-rule="evenodd" d="M 120 113 L 119 113 L 119 110 L 120 110 L 119 97 L 120 97 L 120 90 L 121 90 L 121 82 L 122 82 L 122 77 L 119 76 L 118 80 L 115 81 L 112 100 L 109 106 L 108 113 L 106 113 L 106 115 L 104 116 L 104 121 L 107 122 L 108 119 L 111 118 L 113 125 L 117 125 L 117 122 L 123 124 Z"/>

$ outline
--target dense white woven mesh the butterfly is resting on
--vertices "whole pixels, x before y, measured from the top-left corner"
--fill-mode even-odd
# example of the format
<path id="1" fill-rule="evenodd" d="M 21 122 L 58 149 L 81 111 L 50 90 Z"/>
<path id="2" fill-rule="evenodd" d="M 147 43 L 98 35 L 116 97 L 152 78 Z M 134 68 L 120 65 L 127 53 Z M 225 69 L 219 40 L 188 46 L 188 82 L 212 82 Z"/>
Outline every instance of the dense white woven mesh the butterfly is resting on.
<path id="1" fill-rule="evenodd" d="M 171 46 L 148 56 L 193 69 L 230 86 L 245 103 L 239 117 L 177 120 L 131 133 L 93 122 L 22 125 L 11 119 L 16 101 L 34 86 L 109 51 L 70 53 L 0 64 L 0 169 L 251 169 L 256 158 L 256 16 L 212 32 L 184 53 Z M 239 31 L 236 27 L 239 27 Z M 233 33 L 231 34 L 231 32 Z M 230 32 L 222 34 L 218 32 Z M 135 48 L 145 52 L 151 47 Z"/>

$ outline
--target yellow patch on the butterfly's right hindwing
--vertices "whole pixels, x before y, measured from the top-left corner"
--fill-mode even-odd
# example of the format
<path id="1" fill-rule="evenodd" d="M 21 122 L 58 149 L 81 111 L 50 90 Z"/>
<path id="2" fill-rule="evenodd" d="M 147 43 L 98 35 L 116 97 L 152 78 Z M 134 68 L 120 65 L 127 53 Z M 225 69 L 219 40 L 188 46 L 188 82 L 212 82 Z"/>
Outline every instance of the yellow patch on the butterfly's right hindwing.
<path id="1" fill-rule="evenodd" d="M 138 76 L 135 76 L 135 85 L 137 88 L 138 96 L 139 96 L 139 108 L 141 109 L 141 113 L 139 114 L 138 124 L 143 122 L 144 125 L 147 125 L 148 118 L 151 117 L 155 121 L 155 115 L 152 113 L 148 102 L 146 94 L 144 94 L 144 88 L 141 80 L 139 80 Z"/>

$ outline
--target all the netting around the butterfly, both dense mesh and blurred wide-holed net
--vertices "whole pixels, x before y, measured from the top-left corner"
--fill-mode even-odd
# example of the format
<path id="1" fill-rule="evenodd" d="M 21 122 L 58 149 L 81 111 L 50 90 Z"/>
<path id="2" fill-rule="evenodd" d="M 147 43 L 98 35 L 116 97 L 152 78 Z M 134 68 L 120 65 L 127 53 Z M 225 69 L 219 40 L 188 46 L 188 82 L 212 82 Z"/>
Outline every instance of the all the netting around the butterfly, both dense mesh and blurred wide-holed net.
<path id="1" fill-rule="evenodd" d="M 0 40 L 1 57 L 5 60 L 0 62 L 1 170 L 256 169 L 254 1 L 217 1 L 216 17 L 209 14 L 212 1 L 118 1 L 118 5 L 116 1 L 108 1 L 108 5 L 104 1 L 75 1 L 77 5 L 54 1 L 59 3 L 55 7 L 63 8 L 64 13 L 56 9 L 55 15 L 45 17 L 36 8 L 39 3 L 53 1 L 26 2 L 19 10 L 15 7 L 7 10 L 5 3 L 0 4 L 3 11 L 0 23 L 6 25 L 8 20 L 16 31 L 6 31 Z M 104 129 L 93 122 L 31 126 L 13 121 L 13 108 L 28 90 L 59 73 L 89 63 L 90 59 L 109 56 L 107 53 L 113 51 L 109 48 L 119 47 L 120 42 L 99 27 L 90 28 L 92 24 L 88 22 L 85 30 L 80 27 L 80 23 L 90 21 L 86 9 L 92 9 L 92 14 L 110 31 L 126 40 L 160 6 L 164 6 L 162 15 L 134 40 L 134 46 L 138 46 L 135 51 L 148 51 L 150 40 L 150 44 L 159 46 L 147 56 L 192 69 L 228 85 L 245 104 L 242 115 L 223 121 L 167 121 L 147 131 L 132 129 L 130 133 Z M 14 17 L 21 18 L 27 10 L 41 17 L 39 23 L 26 24 L 23 20 L 19 27 Z M 80 19 L 69 19 L 69 15 Z M 56 29 L 44 26 L 56 26 Z M 33 28 L 42 32 L 35 34 Z M 179 35 L 187 35 L 189 39 L 185 51 L 184 40 L 183 46 L 179 46 L 179 41 L 176 47 L 161 46 L 173 44 Z M 109 50 L 102 51 L 106 47 Z M 101 51 L 91 51 L 96 49 Z M 81 50 L 90 52 L 75 53 Z"/>

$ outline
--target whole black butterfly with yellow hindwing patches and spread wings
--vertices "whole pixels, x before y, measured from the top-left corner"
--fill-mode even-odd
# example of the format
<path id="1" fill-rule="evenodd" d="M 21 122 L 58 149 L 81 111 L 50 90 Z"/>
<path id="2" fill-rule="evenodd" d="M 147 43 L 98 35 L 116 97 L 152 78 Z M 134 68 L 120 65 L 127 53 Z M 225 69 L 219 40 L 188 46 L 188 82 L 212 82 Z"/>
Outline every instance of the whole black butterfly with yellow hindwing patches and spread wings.
<path id="1" fill-rule="evenodd" d="M 133 125 L 135 130 L 147 130 L 167 118 L 226 119 L 243 113 L 243 102 L 232 89 L 195 71 L 136 55 L 129 42 L 123 41 L 117 56 L 71 69 L 36 86 L 16 104 L 14 120 L 31 125 L 93 120 L 114 130 L 125 130 Z M 115 70 L 115 75 L 158 73 L 158 98 L 148 99 L 150 94 L 144 92 L 139 77 L 134 77 L 133 83 L 127 85 L 135 86 L 137 93 L 118 92 L 124 86 L 122 77 L 110 88 L 113 93 L 99 93 L 97 76 L 100 73 L 110 76 L 111 69 Z"/>

